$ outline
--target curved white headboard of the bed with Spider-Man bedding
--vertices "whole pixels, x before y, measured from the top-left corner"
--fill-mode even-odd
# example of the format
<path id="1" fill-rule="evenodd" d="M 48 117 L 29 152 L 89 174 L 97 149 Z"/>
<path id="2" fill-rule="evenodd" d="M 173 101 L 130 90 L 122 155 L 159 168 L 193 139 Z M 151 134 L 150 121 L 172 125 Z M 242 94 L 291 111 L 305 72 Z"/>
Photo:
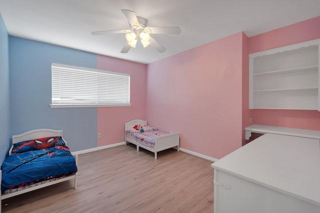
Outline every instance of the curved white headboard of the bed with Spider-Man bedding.
<path id="1" fill-rule="evenodd" d="M 35 129 L 28 132 L 24 132 L 19 135 L 13 135 L 12 144 L 16 144 L 21 141 L 28 141 L 28 140 L 37 139 L 37 138 L 54 137 L 54 136 L 62 137 L 62 130 Z"/>

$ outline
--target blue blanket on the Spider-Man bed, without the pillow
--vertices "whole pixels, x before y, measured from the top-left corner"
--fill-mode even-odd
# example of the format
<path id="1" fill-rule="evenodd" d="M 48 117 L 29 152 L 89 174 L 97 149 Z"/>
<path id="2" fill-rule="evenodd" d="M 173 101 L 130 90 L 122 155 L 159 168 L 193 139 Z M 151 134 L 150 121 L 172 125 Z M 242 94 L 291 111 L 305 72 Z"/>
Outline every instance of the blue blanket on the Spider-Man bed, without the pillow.
<path id="1" fill-rule="evenodd" d="M 1 191 L 76 171 L 75 158 L 66 146 L 12 153 L 2 164 Z"/>

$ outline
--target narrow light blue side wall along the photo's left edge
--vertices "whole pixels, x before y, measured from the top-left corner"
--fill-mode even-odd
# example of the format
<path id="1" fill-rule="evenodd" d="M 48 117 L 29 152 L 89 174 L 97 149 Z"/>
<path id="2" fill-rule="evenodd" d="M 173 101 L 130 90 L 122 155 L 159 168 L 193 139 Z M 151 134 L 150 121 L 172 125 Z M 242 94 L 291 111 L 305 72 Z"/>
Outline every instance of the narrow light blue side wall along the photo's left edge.
<path id="1" fill-rule="evenodd" d="M 10 145 L 8 54 L 8 32 L 0 13 L 0 164 L 6 157 Z"/>

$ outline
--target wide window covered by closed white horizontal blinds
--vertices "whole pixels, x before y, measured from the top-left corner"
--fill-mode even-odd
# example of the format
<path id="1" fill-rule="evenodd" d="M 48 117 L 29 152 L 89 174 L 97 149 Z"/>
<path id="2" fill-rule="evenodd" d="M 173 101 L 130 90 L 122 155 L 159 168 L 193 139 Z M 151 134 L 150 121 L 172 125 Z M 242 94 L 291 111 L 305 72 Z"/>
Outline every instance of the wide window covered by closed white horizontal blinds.
<path id="1" fill-rule="evenodd" d="M 51 64 L 50 107 L 130 106 L 130 75 Z"/>

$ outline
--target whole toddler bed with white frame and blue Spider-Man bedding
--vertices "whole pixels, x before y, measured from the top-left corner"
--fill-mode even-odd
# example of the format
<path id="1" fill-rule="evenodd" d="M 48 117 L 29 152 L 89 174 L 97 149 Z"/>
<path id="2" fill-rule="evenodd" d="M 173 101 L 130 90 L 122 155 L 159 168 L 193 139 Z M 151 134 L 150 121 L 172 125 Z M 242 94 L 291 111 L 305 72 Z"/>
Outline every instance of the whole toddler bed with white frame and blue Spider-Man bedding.
<path id="1" fill-rule="evenodd" d="M 76 189 L 76 164 L 77 155 L 70 153 L 62 130 L 36 129 L 13 135 L 0 170 L 0 200 L 72 179 Z"/>

